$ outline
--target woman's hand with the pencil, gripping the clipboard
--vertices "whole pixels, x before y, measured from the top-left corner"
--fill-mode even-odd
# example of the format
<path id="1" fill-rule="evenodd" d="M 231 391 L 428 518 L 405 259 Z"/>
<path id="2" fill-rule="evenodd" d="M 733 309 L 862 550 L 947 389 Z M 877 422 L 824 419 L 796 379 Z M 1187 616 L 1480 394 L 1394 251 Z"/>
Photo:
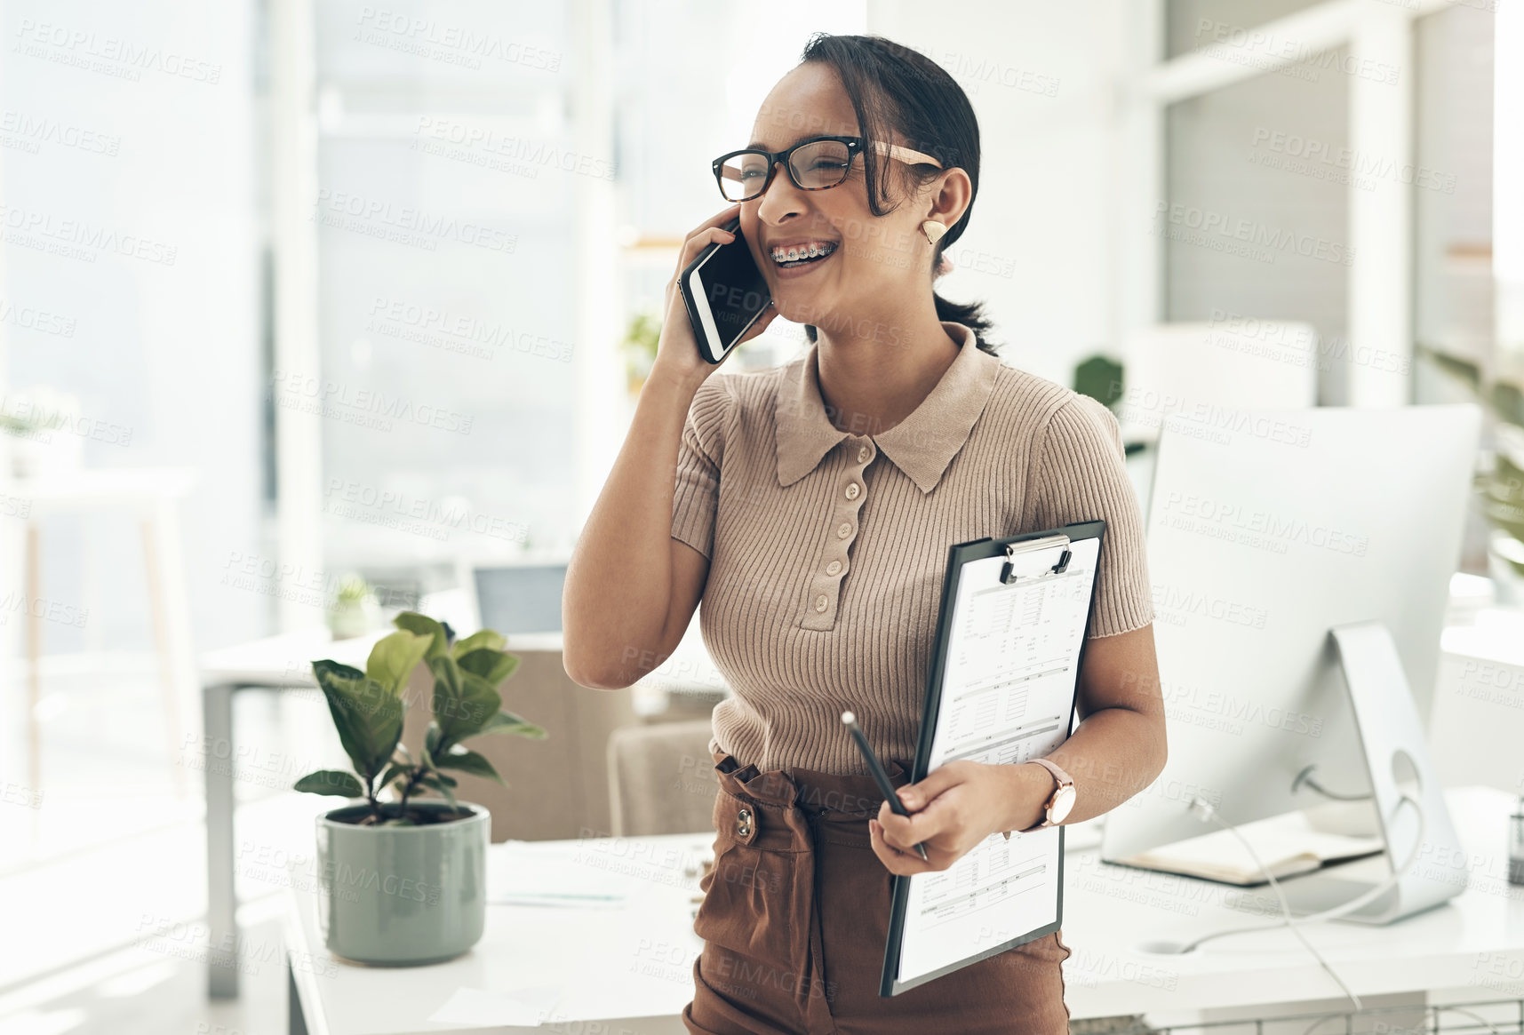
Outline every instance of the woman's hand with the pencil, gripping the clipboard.
<path id="1" fill-rule="evenodd" d="M 1017 765 L 948 762 L 927 779 L 899 788 L 910 816 L 896 816 L 888 802 L 869 820 L 873 854 L 892 873 L 945 870 L 1013 814 L 1012 797 L 1027 787 Z M 916 843 L 927 849 L 925 863 Z"/>

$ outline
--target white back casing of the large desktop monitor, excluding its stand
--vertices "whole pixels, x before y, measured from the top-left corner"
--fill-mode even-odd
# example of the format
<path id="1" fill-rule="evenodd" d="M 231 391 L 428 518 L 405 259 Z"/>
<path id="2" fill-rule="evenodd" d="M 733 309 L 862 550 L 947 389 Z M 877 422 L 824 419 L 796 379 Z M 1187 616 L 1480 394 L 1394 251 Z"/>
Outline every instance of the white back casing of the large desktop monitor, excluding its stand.
<path id="1" fill-rule="evenodd" d="M 1329 631 L 1385 623 L 1426 726 L 1478 433 L 1474 405 L 1170 418 L 1148 506 L 1169 761 L 1106 814 L 1102 860 L 1210 832 L 1193 794 L 1237 825 L 1326 802 L 1309 765 L 1370 793 Z"/>

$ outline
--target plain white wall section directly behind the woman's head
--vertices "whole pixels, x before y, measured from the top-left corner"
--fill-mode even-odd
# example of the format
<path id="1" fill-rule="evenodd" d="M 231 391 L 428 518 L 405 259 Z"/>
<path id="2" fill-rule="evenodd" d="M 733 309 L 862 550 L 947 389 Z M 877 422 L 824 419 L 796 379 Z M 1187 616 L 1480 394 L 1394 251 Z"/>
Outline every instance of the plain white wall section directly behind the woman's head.
<path id="1" fill-rule="evenodd" d="M 1065 386 L 1079 360 L 1120 354 L 1113 184 L 1126 160 L 1116 98 L 1128 21 L 1123 0 L 981 0 L 956 17 L 869 3 L 869 32 L 937 61 L 978 117 L 978 198 L 952 250 L 962 268 L 939 293 L 986 299 L 1006 363 Z"/>

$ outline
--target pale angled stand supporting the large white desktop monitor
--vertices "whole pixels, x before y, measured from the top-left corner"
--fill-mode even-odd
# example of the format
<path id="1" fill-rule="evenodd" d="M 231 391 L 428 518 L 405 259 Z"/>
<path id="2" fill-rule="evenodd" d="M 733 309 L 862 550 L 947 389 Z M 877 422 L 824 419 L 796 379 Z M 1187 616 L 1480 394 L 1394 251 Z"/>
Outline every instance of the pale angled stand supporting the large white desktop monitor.
<path id="1" fill-rule="evenodd" d="M 1280 889 L 1291 912 L 1305 916 L 1356 898 L 1388 880 L 1413 857 L 1398 884 L 1338 918 L 1390 924 L 1466 890 L 1466 851 L 1445 806 L 1445 793 L 1434 773 L 1391 633 L 1381 622 L 1355 622 L 1335 626 L 1329 634 L 1349 689 L 1355 729 L 1370 773 L 1370 803 L 1387 849 L 1381 855 L 1282 881 Z M 1416 844 L 1417 809 L 1402 800 L 1404 794 L 1423 809 L 1422 844 Z"/>

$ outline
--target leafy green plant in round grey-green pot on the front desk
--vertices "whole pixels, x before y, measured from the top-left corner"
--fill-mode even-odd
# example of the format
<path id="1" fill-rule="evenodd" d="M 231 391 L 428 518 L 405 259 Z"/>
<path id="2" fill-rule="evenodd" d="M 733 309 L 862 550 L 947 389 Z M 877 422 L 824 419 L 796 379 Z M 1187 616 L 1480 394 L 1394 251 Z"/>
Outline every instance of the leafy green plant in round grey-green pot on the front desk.
<path id="1" fill-rule="evenodd" d="M 503 649 L 500 633 L 457 642 L 448 625 L 416 611 L 393 623 L 398 631 L 376 642 L 363 672 L 312 662 L 355 768 L 309 773 L 296 790 L 351 799 L 317 817 L 319 919 L 329 951 L 360 963 L 436 963 L 475 945 L 486 924 L 491 814 L 457 802 L 447 770 L 503 783 L 462 741 L 546 732 L 501 710 L 498 687 L 518 657 Z M 415 759 L 401 738 L 404 687 L 419 665 L 433 677 L 433 716 Z M 439 797 L 421 797 L 430 791 Z"/>

